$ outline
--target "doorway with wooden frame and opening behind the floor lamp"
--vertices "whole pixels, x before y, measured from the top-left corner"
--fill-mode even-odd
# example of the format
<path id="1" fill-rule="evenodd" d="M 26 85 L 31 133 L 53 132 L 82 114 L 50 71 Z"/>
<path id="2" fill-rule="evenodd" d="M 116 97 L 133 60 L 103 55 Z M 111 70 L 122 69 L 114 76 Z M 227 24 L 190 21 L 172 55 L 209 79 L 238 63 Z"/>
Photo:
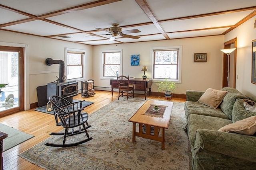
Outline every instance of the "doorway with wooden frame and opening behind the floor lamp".
<path id="1" fill-rule="evenodd" d="M 236 48 L 237 38 L 231 39 L 224 43 L 224 49 Z M 228 57 L 223 53 L 223 72 L 222 72 L 222 88 L 232 87 L 236 88 L 236 50 L 229 55 L 229 85 L 227 81 L 228 77 Z"/>

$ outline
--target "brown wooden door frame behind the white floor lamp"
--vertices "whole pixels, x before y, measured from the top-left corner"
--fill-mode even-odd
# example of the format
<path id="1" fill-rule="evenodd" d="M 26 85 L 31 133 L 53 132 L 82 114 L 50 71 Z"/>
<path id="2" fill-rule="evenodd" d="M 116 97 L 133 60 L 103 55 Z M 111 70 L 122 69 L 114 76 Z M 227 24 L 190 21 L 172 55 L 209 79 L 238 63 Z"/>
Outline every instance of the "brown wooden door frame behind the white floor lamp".
<path id="1" fill-rule="evenodd" d="M 230 49 L 231 44 L 234 44 L 234 48 L 237 48 L 237 38 L 226 41 L 223 45 L 223 49 Z M 229 55 L 230 61 L 230 55 Z M 230 62 L 229 62 L 230 64 Z M 228 87 L 227 76 L 228 76 L 228 57 L 223 53 L 223 69 L 222 69 L 222 88 Z M 234 51 L 234 77 L 233 77 L 233 86 L 236 88 L 236 50 Z"/>

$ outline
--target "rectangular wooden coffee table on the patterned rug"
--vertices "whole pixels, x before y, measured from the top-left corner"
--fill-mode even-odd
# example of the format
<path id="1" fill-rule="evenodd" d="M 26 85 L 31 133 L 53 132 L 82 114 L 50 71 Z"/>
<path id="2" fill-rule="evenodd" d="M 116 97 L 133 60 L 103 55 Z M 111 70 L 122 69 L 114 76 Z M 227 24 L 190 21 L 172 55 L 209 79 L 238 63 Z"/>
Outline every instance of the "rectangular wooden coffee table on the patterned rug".
<path id="1" fill-rule="evenodd" d="M 144 115 L 150 105 L 162 105 L 167 106 L 163 117 L 152 117 L 150 115 Z M 136 141 L 137 137 L 143 137 L 162 143 L 161 149 L 164 149 L 164 129 L 168 129 L 170 123 L 170 117 L 172 113 L 173 102 L 166 102 L 160 100 L 148 100 L 146 101 L 134 115 L 129 119 L 132 122 L 132 142 Z M 139 124 L 139 128 L 136 129 L 136 123 Z M 146 131 L 145 131 L 146 127 Z M 154 127 L 154 130 L 153 128 Z M 150 132 L 150 129 L 153 130 Z M 138 131 L 136 131 L 138 130 Z M 161 130 L 161 134 L 160 133 Z"/>

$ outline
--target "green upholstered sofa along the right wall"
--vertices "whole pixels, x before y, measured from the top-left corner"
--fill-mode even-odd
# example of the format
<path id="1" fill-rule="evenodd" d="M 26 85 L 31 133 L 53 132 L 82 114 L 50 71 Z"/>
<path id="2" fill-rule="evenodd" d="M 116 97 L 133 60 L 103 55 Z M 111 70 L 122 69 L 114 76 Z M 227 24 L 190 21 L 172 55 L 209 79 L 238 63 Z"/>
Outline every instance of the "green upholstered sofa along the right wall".
<path id="1" fill-rule="evenodd" d="M 256 134 L 241 135 L 218 131 L 225 125 L 256 115 L 247 111 L 244 94 L 228 91 L 216 109 L 197 102 L 204 92 L 188 90 L 184 103 L 185 130 L 192 152 L 192 170 L 255 170 Z"/>

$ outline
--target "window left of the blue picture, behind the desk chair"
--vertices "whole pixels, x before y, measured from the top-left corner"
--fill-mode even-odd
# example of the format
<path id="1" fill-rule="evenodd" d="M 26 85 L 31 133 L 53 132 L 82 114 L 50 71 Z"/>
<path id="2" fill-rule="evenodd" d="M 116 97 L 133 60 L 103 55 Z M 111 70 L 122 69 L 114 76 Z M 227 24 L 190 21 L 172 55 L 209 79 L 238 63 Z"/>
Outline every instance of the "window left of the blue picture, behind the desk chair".
<path id="1" fill-rule="evenodd" d="M 122 50 L 102 51 L 103 77 L 122 75 Z"/>

